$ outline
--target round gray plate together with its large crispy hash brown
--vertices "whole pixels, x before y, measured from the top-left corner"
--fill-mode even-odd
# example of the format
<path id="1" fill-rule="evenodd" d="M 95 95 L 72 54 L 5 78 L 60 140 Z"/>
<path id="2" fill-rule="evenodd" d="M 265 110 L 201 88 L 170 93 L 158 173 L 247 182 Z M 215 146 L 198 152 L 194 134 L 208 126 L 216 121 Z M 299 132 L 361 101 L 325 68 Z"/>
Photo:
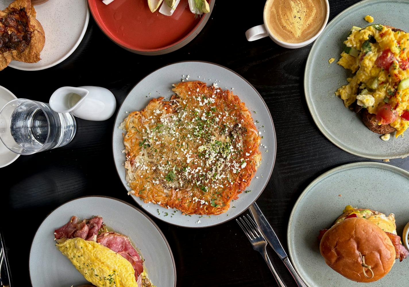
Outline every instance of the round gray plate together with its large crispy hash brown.
<path id="1" fill-rule="evenodd" d="M 187 61 L 152 72 L 129 92 L 112 148 L 124 192 L 160 220 L 197 228 L 226 222 L 258 198 L 276 137 L 249 82 L 220 65 Z"/>

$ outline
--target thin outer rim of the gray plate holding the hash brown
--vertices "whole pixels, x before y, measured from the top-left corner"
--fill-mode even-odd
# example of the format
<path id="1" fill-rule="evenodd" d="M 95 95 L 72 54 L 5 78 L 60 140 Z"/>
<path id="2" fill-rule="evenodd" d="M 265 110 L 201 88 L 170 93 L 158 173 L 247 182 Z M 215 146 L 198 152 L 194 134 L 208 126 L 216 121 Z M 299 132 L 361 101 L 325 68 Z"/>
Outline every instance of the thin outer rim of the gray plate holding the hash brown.
<path id="1" fill-rule="evenodd" d="M 232 220 L 232 219 L 234 219 L 234 218 L 240 216 L 242 213 L 244 213 L 245 211 L 247 211 L 247 209 L 249 209 L 250 205 L 252 205 L 254 202 L 256 202 L 256 200 L 258 200 L 258 198 L 259 198 L 260 195 L 264 192 L 265 188 L 267 187 L 268 183 L 270 182 L 271 176 L 272 176 L 272 174 L 273 174 L 274 165 L 275 165 L 275 163 L 276 163 L 276 155 L 277 155 L 277 135 L 276 135 L 276 129 L 275 129 L 275 127 L 274 127 L 274 121 L 273 121 L 273 118 L 272 118 L 272 116 L 271 116 L 270 109 L 268 108 L 267 104 L 265 103 L 263 97 L 262 97 L 261 94 L 256 90 L 256 88 L 255 88 L 251 83 L 249 83 L 249 81 L 247 81 L 247 80 L 246 80 L 243 76 L 241 76 L 240 74 L 234 72 L 233 70 L 231 70 L 231 69 L 229 69 L 229 68 L 227 68 L 227 67 L 225 67 L 225 66 L 223 66 L 223 65 L 219 65 L 219 64 L 212 63 L 212 62 L 209 62 L 209 61 L 179 61 L 179 62 L 175 62 L 175 63 L 170 63 L 170 64 L 167 64 L 167 65 L 164 65 L 164 66 L 162 66 L 162 67 L 160 67 L 160 68 L 158 68 L 158 69 L 156 69 L 156 70 L 150 72 L 150 73 L 147 74 L 146 76 L 144 76 L 141 80 L 139 80 L 139 81 L 130 89 L 130 91 L 128 92 L 128 94 L 125 96 L 124 101 L 121 103 L 121 105 L 119 105 L 118 112 L 117 112 L 117 114 L 115 115 L 114 125 L 113 125 L 113 128 L 112 128 L 112 159 L 113 159 L 113 161 L 114 161 L 115 170 L 117 171 L 117 175 L 118 175 L 118 177 L 119 177 L 119 180 L 121 181 L 122 186 L 124 186 L 125 191 L 127 191 L 127 187 L 126 187 L 126 186 L 124 185 L 124 183 L 122 182 L 121 175 L 119 174 L 119 170 L 117 169 L 117 165 L 115 164 L 115 155 L 114 155 L 114 133 L 115 133 L 115 130 L 116 130 L 116 128 L 117 128 L 117 126 L 115 125 L 115 123 L 116 123 L 117 118 L 118 118 L 118 116 L 119 116 L 119 110 L 121 110 L 121 107 L 122 107 L 122 105 L 124 104 L 124 102 L 125 102 L 126 98 L 128 97 L 129 93 L 130 93 L 133 89 L 135 89 L 135 87 L 136 87 L 137 85 L 139 85 L 140 82 L 142 82 L 145 78 L 147 78 L 147 77 L 150 76 L 151 74 L 155 73 L 155 72 L 158 71 L 158 70 L 161 70 L 161 69 L 164 68 L 164 67 L 170 66 L 170 65 L 175 65 L 175 64 L 180 64 L 180 63 L 192 63 L 192 62 L 193 62 L 193 63 L 206 63 L 206 64 L 211 64 L 211 65 L 216 65 L 216 66 L 222 67 L 222 68 L 224 68 L 224 69 L 226 69 L 226 70 L 228 70 L 228 71 L 230 71 L 230 72 L 233 72 L 234 74 L 236 74 L 237 76 L 239 76 L 242 80 L 244 80 L 248 85 L 250 85 L 250 87 L 257 93 L 257 95 L 260 97 L 261 101 L 263 101 L 263 104 L 265 105 L 265 108 L 266 108 L 266 110 L 267 110 L 267 112 L 268 112 L 268 115 L 270 116 L 271 124 L 272 124 L 272 127 L 273 127 L 273 134 L 274 134 L 274 159 L 273 159 L 273 162 L 272 162 L 272 167 L 271 167 L 270 175 L 268 175 L 268 179 L 267 179 L 266 183 L 264 184 L 263 188 L 261 189 L 260 194 L 256 197 L 256 199 L 255 199 L 252 203 L 249 204 L 249 206 L 247 206 L 247 208 L 245 208 L 245 209 L 244 209 L 242 212 L 240 212 L 238 215 L 232 216 L 232 217 L 229 216 L 229 218 L 228 218 L 227 220 L 225 220 L 225 221 L 222 221 L 222 222 L 219 222 L 219 223 L 215 223 L 215 224 L 211 224 L 211 225 L 208 225 L 208 226 L 186 226 L 186 225 L 180 225 L 180 224 L 175 224 L 175 223 L 166 221 L 166 220 L 162 219 L 161 217 L 155 217 L 155 218 L 157 218 L 157 219 L 159 219 L 159 220 L 162 220 L 163 222 L 166 222 L 167 224 L 172 224 L 172 225 L 175 225 L 175 226 L 180 226 L 180 227 L 185 227 L 185 228 L 195 228 L 195 229 L 196 229 L 196 228 L 207 228 L 207 227 L 216 226 L 216 225 L 219 225 L 219 224 L 223 224 L 223 223 L 229 222 L 230 220 Z M 136 197 L 134 197 L 134 196 L 131 196 L 131 197 L 132 197 L 133 201 L 134 201 L 136 204 L 138 204 L 139 207 L 141 207 L 143 210 L 145 210 L 145 209 L 142 207 L 142 205 L 141 205 L 139 202 L 136 201 Z"/>

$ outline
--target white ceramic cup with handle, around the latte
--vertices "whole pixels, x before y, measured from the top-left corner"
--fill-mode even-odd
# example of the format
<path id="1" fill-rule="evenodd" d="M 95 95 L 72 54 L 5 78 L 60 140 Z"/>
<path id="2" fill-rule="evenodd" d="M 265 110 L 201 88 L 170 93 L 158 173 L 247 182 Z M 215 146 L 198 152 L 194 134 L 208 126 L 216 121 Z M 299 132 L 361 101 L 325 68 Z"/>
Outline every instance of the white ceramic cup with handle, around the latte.
<path id="1" fill-rule="evenodd" d="M 297 49 L 297 48 L 301 48 L 304 47 L 310 43 L 312 43 L 315 39 L 318 38 L 318 36 L 322 33 L 322 31 L 324 31 L 325 26 L 327 25 L 328 22 L 328 17 L 330 15 L 330 4 L 328 3 L 328 0 L 324 0 L 325 5 L 326 5 L 326 16 L 325 16 L 325 21 L 324 24 L 322 25 L 321 29 L 318 31 L 317 34 L 315 34 L 314 36 L 312 36 L 311 38 L 309 38 L 308 40 L 304 41 L 304 42 L 300 42 L 300 43 L 287 43 L 287 42 L 283 42 L 281 40 L 279 40 L 276 36 L 274 36 L 272 34 L 272 32 L 268 29 L 267 26 L 267 19 L 266 19 L 266 10 L 267 10 L 267 3 L 269 1 L 274 1 L 274 0 L 267 0 L 265 2 L 264 5 L 264 10 L 263 10 L 263 25 L 258 25 L 255 27 L 252 27 L 250 29 L 248 29 L 246 31 L 246 38 L 247 41 L 254 41 L 254 40 L 258 40 L 267 36 L 270 36 L 271 40 L 273 40 L 276 44 L 285 47 L 285 48 L 289 48 L 289 49 Z"/>

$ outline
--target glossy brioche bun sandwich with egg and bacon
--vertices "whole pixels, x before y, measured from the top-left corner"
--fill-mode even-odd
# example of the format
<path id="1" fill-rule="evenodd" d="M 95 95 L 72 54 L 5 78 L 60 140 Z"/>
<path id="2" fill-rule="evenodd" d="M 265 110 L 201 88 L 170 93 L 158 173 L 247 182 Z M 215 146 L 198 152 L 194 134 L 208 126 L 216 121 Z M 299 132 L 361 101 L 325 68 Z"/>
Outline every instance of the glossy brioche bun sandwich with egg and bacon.
<path id="1" fill-rule="evenodd" d="M 320 231 L 326 264 L 356 282 L 373 282 L 409 255 L 396 233 L 395 215 L 346 206 L 330 229 Z"/>

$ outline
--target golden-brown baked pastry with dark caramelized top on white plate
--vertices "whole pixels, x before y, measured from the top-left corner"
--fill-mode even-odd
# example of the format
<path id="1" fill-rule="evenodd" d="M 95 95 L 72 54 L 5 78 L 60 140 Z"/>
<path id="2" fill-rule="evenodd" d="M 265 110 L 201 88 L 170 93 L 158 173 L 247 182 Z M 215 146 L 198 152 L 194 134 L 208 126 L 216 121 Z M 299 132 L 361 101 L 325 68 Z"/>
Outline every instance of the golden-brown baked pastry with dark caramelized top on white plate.
<path id="1" fill-rule="evenodd" d="M 12 60 L 40 61 L 45 33 L 30 0 L 16 0 L 0 11 L 0 71 Z"/>

